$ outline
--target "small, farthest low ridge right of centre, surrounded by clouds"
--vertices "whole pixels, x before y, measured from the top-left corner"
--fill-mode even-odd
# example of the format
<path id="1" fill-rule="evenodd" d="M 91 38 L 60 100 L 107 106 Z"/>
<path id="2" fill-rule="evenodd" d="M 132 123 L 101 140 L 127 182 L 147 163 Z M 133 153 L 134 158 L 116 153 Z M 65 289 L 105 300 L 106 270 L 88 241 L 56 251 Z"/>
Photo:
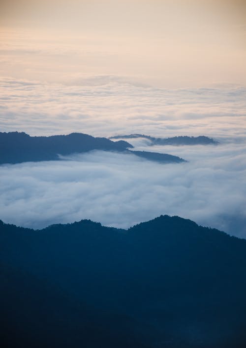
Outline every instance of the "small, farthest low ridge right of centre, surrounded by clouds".
<path id="1" fill-rule="evenodd" d="M 150 140 L 150 145 L 216 145 L 218 144 L 212 138 L 208 136 L 174 136 L 171 138 L 155 138 L 154 136 L 144 134 L 129 134 L 129 135 L 116 135 L 110 136 L 109 139 L 132 139 L 132 138 L 145 138 Z"/>

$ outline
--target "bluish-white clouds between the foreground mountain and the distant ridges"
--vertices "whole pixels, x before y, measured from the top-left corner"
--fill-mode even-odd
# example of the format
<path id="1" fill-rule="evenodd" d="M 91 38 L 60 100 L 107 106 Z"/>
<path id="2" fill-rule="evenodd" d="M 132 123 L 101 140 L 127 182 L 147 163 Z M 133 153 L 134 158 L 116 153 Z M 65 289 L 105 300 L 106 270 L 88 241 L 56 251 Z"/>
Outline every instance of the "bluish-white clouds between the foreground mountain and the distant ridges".
<path id="1" fill-rule="evenodd" d="M 148 147 L 142 142 L 137 148 Z M 158 164 L 95 151 L 2 165 L 0 218 L 33 228 L 83 218 L 127 228 L 170 214 L 246 238 L 245 141 L 151 150 L 189 162 Z"/>

